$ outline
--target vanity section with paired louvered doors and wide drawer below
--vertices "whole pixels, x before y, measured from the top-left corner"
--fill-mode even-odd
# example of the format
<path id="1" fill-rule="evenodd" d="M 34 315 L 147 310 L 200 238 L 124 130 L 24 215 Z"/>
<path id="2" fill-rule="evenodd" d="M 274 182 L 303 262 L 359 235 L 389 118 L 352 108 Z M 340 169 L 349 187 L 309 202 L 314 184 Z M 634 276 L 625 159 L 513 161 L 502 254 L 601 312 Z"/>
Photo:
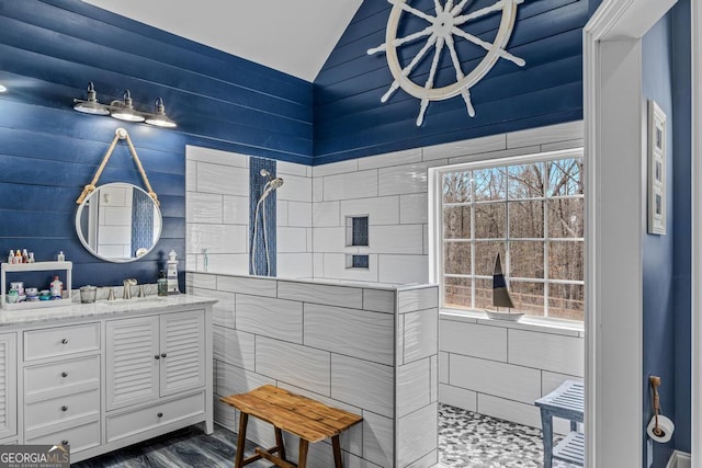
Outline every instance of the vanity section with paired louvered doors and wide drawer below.
<path id="1" fill-rule="evenodd" d="M 204 310 L 107 321 L 107 443 L 205 413 L 206 341 Z"/>

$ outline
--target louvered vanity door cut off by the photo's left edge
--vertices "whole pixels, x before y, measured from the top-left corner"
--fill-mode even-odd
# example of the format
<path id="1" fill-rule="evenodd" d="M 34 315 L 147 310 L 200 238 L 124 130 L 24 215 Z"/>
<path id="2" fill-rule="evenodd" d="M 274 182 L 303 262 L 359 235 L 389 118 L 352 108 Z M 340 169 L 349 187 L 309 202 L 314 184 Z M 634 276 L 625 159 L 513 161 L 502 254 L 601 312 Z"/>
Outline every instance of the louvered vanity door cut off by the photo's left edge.
<path id="1" fill-rule="evenodd" d="M 16 334 L 0 334 L 0 438 L 18 433 Z"/>

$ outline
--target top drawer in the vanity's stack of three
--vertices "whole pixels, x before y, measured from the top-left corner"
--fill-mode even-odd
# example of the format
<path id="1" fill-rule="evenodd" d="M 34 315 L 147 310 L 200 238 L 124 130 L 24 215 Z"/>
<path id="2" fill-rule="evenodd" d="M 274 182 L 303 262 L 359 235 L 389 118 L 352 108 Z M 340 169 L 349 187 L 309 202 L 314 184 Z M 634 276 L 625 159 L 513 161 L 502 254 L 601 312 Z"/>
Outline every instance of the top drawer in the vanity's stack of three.
<path id="1" fill-rule="evenodd" d="M 100 323 L 24 332 L 24 361 L 100 350 Z"/>

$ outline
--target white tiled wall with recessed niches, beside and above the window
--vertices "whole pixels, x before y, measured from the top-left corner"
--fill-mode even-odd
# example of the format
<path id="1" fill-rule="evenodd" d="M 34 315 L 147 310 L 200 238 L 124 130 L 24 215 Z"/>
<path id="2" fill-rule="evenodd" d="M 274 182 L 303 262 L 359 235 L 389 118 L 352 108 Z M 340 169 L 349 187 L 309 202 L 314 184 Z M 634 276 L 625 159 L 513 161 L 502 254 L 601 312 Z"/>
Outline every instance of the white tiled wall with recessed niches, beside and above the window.
<path id="1" fill-rule="evenodd" d="M 582 147 L 582 123 L 554 125 L 416 148 L 313 168 L 314 275 L 381 283 L 427 283 L 428 169 Z M 369 247 L 347 247 L 346 218 L 369 216 Z M 347 269 L 346 254 L 369 255 Z"/>

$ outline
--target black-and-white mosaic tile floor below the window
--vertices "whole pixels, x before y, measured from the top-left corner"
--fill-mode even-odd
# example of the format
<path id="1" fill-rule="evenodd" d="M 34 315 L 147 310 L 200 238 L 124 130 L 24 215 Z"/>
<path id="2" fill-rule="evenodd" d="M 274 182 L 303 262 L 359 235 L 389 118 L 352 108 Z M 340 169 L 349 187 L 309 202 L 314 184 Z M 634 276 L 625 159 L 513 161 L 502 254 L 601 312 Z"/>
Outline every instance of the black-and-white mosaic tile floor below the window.
<path id="1" fill-rule="evenodd" d="M 543 467 L 541 430 L 448 404 L 439 404 L 439 446 L 445 468 Z M 573 466 L 555 460 L 553 467 Z"/>

